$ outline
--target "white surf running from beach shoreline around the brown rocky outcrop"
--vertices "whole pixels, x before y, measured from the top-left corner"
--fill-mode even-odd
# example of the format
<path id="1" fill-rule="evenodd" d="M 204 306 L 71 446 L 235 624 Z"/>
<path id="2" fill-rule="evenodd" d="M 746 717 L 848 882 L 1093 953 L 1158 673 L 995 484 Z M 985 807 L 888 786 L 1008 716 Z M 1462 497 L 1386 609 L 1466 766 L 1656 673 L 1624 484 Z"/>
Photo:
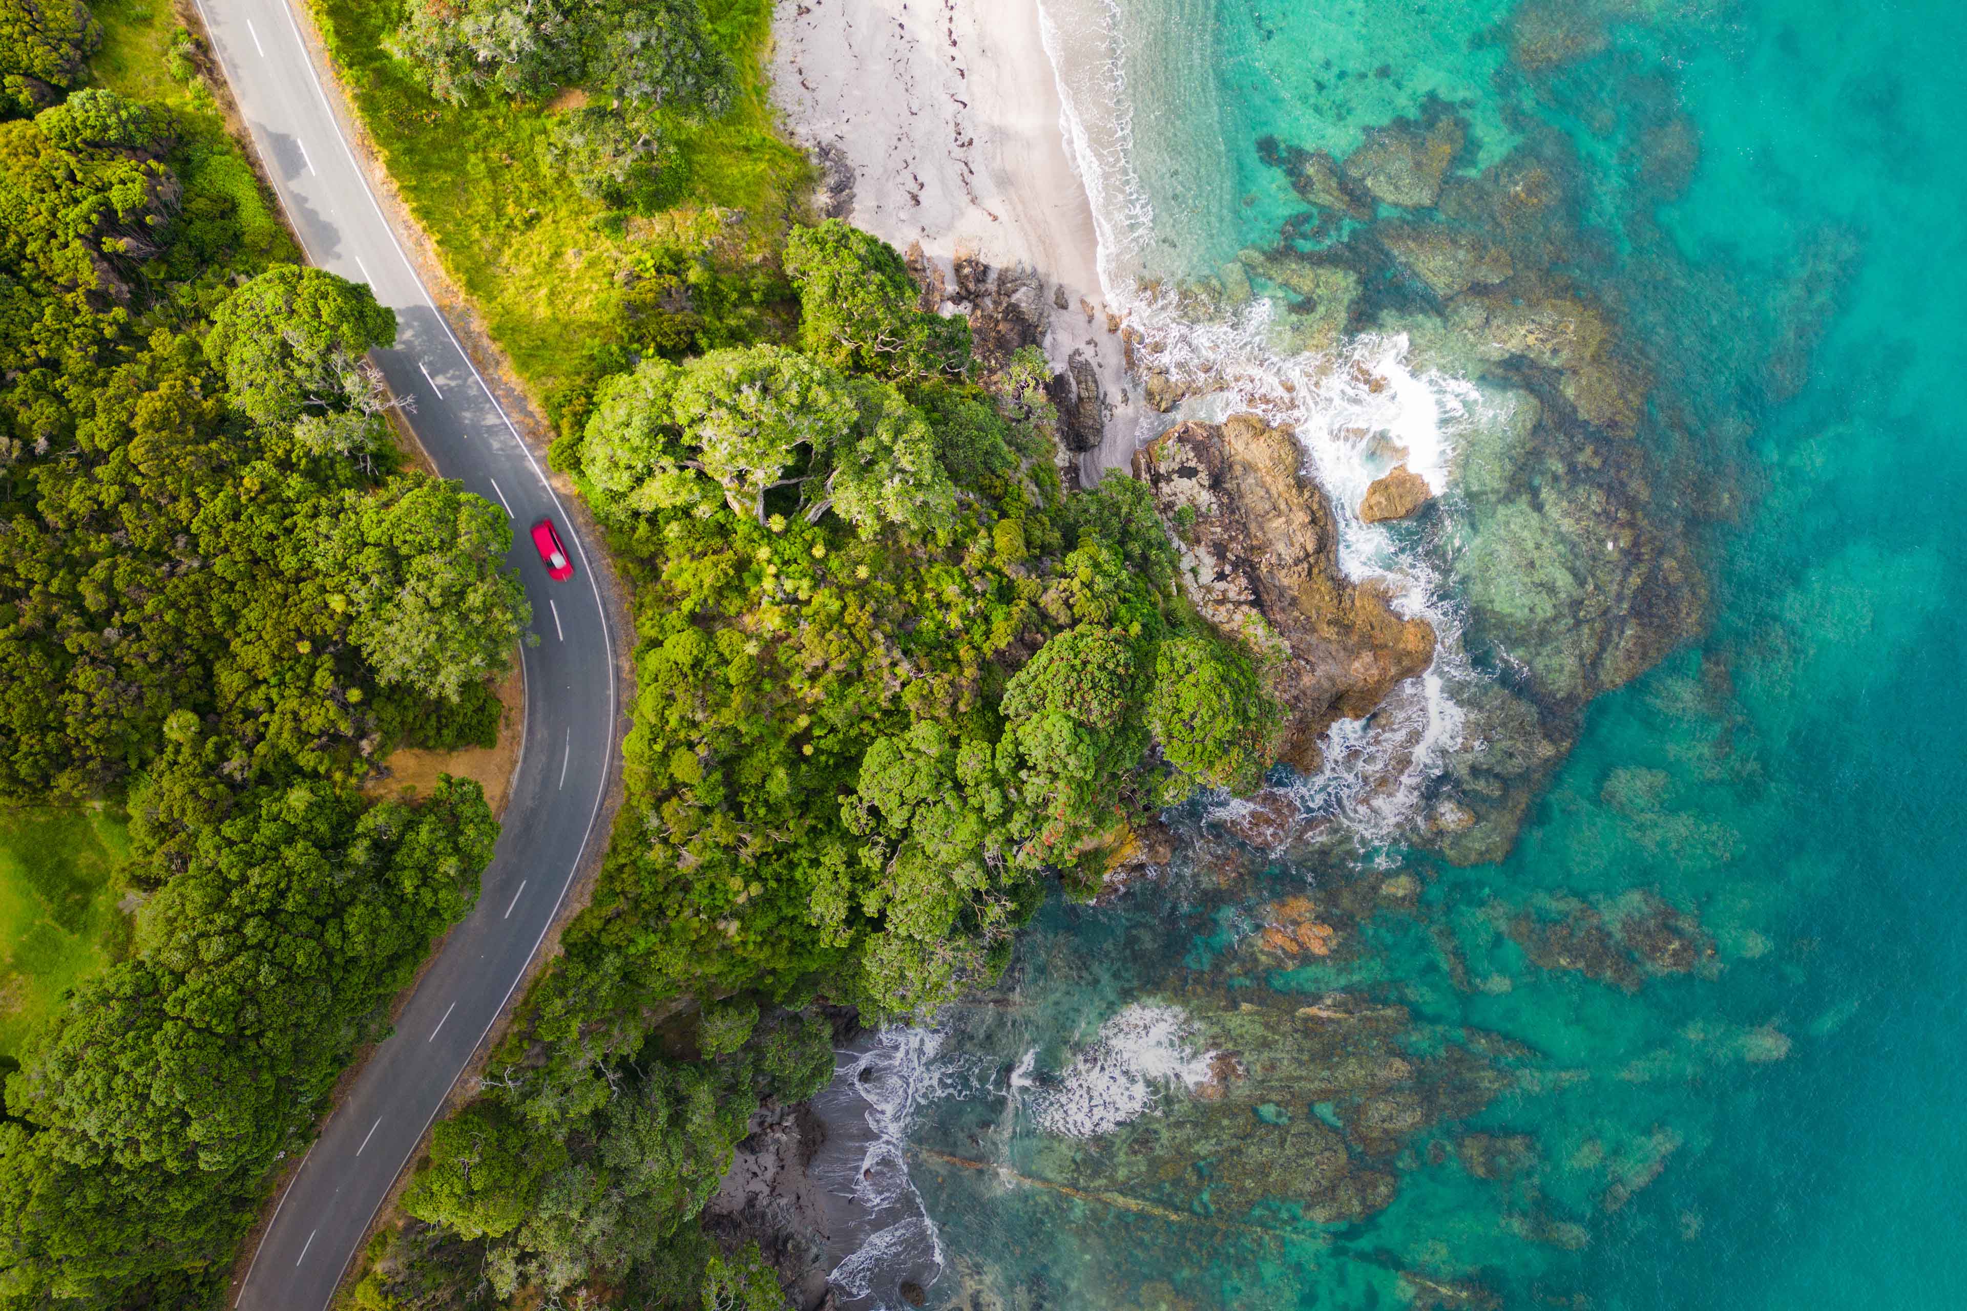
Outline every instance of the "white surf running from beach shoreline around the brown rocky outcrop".
<path id="1" fill-rule="evenodd" d="M 1115 0 L 1041 0 L 1044 47 L 1058 79 L 1062 130 L 1086 181 L 1100 240 L 1100 279 L 1139 334 L 1139 370 L 1166 373 L 1192 417 L 1253 411 L 1288 425 L 1306 466 L 1326 489 L 1340 527 L 1340 568 L 1379 580 L 1393 605 L 1436 631 L 1434 666 L 1406 684 L 1371 721 L 1336 723 L 1318 776 L 1294 792 L 1308 814 L 1334 816 L 1365 843 L 1387 841 L 1420 808 L 1428 780 L 1461 745 L 1452 688 L 1477 674 L 1461 645 L 1460 607 L 1410 529 L 1359 519 L 1371 484 L 1406 464 L 1442 495 L 1450 489 L 1456 436 L 1483 421 L 1479 389 L 1440 370 L 1416 368 L 1404 334 L 1359 334 L 1322 350 L 1296 350 L 1290 314 L 1271 299 L 1222 309 L 1161 287 L 1149 261 L 1166 248 L 1139 175 L 1129 98 L 1129 35 Z M 1155 287 L 1155 289 L 1147 289 Z M 1141 440 L 1153 436 L 1145 428 Z"/>

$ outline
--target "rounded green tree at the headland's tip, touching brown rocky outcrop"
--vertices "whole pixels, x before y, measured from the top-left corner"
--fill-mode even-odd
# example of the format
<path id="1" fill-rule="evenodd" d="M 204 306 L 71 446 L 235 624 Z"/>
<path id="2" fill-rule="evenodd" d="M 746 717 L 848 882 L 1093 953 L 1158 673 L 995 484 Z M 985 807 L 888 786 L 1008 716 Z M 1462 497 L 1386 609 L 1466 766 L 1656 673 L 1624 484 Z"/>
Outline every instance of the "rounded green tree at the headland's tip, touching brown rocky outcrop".
<path id="1" fill-rule="evenodd" d="M 1174 637 L 1155 655 L 1147 725 L 1174 769 L 1166 804 L 1196 788 L 1249 792 L 1273 759 L 1279 713 L 1249 656 L 1216 637 Z"/>

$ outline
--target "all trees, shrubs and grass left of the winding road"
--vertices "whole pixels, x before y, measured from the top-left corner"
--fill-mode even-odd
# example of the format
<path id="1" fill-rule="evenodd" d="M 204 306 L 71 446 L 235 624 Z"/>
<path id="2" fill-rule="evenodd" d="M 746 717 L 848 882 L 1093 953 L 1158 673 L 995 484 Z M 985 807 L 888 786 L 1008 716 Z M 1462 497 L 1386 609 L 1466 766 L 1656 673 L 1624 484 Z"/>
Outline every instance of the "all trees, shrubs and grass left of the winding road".
<path id="1" fill-rule="evenodd" d="M 216 1299 L 498 833 L 358 784 L 478 737 L 527 623 L 165 18 L 0 4 L 6 1307 Z"/>

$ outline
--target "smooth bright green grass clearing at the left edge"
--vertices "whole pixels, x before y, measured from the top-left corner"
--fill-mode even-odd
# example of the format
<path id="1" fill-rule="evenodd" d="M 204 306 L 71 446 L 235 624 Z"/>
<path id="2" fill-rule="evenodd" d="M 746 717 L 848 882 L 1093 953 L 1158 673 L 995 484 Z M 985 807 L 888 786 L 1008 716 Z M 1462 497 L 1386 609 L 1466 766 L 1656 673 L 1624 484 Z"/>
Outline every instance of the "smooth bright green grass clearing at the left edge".
<path id="1" fill-rule="evenodd" d="M 0 1055 L 20 1050 L 63 989 L 122 951 L 128 853 L 116 810 L 0 810 Z"/>

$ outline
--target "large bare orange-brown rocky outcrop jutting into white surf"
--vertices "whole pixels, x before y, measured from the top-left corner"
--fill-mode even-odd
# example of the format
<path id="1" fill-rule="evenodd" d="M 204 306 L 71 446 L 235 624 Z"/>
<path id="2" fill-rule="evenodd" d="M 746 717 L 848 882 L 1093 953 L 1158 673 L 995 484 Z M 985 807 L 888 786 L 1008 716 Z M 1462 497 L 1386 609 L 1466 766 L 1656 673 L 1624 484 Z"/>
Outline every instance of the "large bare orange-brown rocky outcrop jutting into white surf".
<path id="1" fill-rule="evenodd" d="M 1363 717 L 1428 668 L 1434 629 L 1401 619 L 1338 568 L 1338 525 L 1304 450 L 1253 415 L 1184 423 L 1135 454 L 1182 556 L 1182 586 L 1218 631 L 1249 645 L 1286 706 L 1282 759 L 1320 761 L 1338 717 Z"/>

